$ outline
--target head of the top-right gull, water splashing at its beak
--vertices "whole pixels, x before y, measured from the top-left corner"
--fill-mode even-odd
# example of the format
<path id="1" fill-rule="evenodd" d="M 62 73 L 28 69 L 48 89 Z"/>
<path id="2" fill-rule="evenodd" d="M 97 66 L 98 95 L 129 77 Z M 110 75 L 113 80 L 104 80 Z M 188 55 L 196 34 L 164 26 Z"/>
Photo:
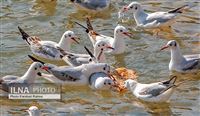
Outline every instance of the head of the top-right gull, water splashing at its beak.
<path id="1" fill-rule="evenodd" d="M 132 2 L 129 5 L 124 6 L 122 8 L 122 12 L 136 13 L 136 12 L 140 11 L 141 9 L 142 8 L 141 8 L 141 4 L 140 3 L 138 3 L 138 2 Z"/>

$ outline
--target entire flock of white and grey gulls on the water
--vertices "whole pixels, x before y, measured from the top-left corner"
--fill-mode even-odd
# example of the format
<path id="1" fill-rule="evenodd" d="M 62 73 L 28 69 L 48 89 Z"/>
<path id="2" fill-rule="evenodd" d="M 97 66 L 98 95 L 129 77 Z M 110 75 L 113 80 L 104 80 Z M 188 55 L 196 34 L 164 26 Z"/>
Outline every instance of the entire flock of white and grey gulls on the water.
<path id="1" fill-rule="evenodd" d="M 110 0 L 71 0 L 77 7 L 84 8 L 93 12 L 101 11 L 110 5 Z M 160 29 L 164 26 L 171 26 L 175 23 L 176 17 L 188 8 L 188 5 L 179 8 L 163 11 L 146 13 L 139 2 L 131 2 L 119 11 L 119 18 L 123 14 L 130 13 L 134 17 L 137 28 L 140 29 Z M 73 53 L 71 44 L 79 45 L 76 33 L 66 31 L 60 38 L 60 41 L 45 41 L 40 37 L 29 35 L 24 29 L 18 26 L 22 39 L 30 47 L 32 53 L 36 56 L 50 59 L 63 60 L 65 66 L 46 63 L 38 60 L 32 55 L 28 55 L 34 62 L 23 76 L 7 75 L 1 78 L 1 84 L 13 83 L 34 83 L 36 76 L 55 83 L 70 86 L 89 86 L 94 90 L 111 90 L 115 84 L 110 74 L 115 70 L 106 60 L 106 54 L 121 54 L 126 50 L 124 39 L 133 37 L 132 33 L 122 25 L 117 25 L 113 32 L 113 37 L 103 35 L 93 28 L 89 18 L 86 18 L 86 26 L 79 22 L 75 24 L 85 29 L 88 38 L 93 46 L 91 52 L 86 46 L 83 48 L 86 53 Z M 170 49 L 171 60 L 169 70 L 181 73 L 199 72 L 200 54 L 182 55 L 179 44 L 176 40 L 170 40 L 160 50 Z M 132 94 L 147 102 L 167 102 L 174 89 L 180 84 L 176 84 L 177 77 L 174 75 L 169 80 L 154 82 L 150 84 L 139 83 L 136 80 L 128 79 L 124 81 L 124 87 Z M 6 88 L 3 88 L 6 91 Z M 38 116 L 39 111 L 36 106 L 27 110 L 30 116 Z"/>

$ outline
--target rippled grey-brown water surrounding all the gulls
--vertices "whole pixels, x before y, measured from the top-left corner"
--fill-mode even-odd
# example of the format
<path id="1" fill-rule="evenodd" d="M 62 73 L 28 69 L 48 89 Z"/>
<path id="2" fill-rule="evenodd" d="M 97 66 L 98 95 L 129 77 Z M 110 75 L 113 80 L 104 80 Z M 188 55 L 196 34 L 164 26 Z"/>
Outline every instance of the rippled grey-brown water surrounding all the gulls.
<path id="1" fill-rule="evenodd" d="M 130 0 L 131 1 L 131 0 Z M 17 26 L 23 27 L 30 35 L 37 35 L 43 40 L 59 41 L 66 30 L 75 31 L 81 37 L 81 43 L 91 42 L 82 28 L 73 24 L 78 21 L 85 24 L 85 16 L 92 19 L 95 30 L 105 35 L 113 35 L 117 25 L 117 12 L 126 0 L 113 3 L 103 13 L 77 11 L 67 0 L 1 0 L 1 60 L 0 76 L 7 74 L 22 75 L 31 61 L 29 47 L 21 39 Z M 141 0 L 148 12 L 169 10 L 192 2 L 195 7 L 183 13 L 173 24 L 171 33 L 161 32 L 155 38 L 149 32 L 133 32 L 134 37 L 126 39 L 127 52 L 117 56 L 108 56 L 113 66 L 125 66 L 139 73 L 139 81 L 150 83 L 168 79 L 169 51 L 160 52 L 162 45 L 170 39 L 179 42 L 184 54 L 200 53 L 200 12 L 198 0 Z M 134 27 L 134 21 L 123 24 Z M 131 26 L 130 26 L 131 25 Z M 85 52 L 82 46 L 73 45 L 73 51 Z M 63 64 L 63 62 L 58 63 Z M 174 92 L 169 103 L 152 104 L 137 100 L 132 94 L 120 95 L 114 92 L 93 91 L 88 87 L 64 87 L 61 101 L 57 100 L 8 100 L 1 98 L 1 115 L 27 115 L 24 110 L 37 105 L 45 115 L 199 115 L 200 114 L 200 75 L 178 74 L 179 80 L 189 79 Z M 47 82 L 38 78 L 37 82 Z"/>

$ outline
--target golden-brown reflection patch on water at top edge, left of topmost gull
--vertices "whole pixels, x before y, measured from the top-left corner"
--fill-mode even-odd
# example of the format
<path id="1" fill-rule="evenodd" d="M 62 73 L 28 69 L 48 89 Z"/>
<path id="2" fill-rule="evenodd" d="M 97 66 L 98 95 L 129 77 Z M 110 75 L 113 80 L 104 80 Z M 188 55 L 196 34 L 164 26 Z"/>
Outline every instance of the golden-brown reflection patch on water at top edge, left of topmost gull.
<path id="1" fill-rule="evenodd" d="M 43 12 L 47 16 L 53 16 L 56 12 L 57 0 L 35 0 L 32 10 Z"/>

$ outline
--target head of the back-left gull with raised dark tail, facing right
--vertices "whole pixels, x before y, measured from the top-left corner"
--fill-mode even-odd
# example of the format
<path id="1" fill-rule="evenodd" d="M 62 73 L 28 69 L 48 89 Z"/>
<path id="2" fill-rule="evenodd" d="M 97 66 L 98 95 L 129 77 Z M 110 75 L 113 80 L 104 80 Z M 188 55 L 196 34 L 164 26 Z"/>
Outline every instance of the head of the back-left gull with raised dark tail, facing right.
<path id="1" fill-rule="evenodd" d="M 80 38 L 78 38 L 73 31 L 66 31 L 63 34 L 64 39 L 70 41 L 71 43 L 77 43 L 79 44 L 78 40 L 80 40 Z"/>

